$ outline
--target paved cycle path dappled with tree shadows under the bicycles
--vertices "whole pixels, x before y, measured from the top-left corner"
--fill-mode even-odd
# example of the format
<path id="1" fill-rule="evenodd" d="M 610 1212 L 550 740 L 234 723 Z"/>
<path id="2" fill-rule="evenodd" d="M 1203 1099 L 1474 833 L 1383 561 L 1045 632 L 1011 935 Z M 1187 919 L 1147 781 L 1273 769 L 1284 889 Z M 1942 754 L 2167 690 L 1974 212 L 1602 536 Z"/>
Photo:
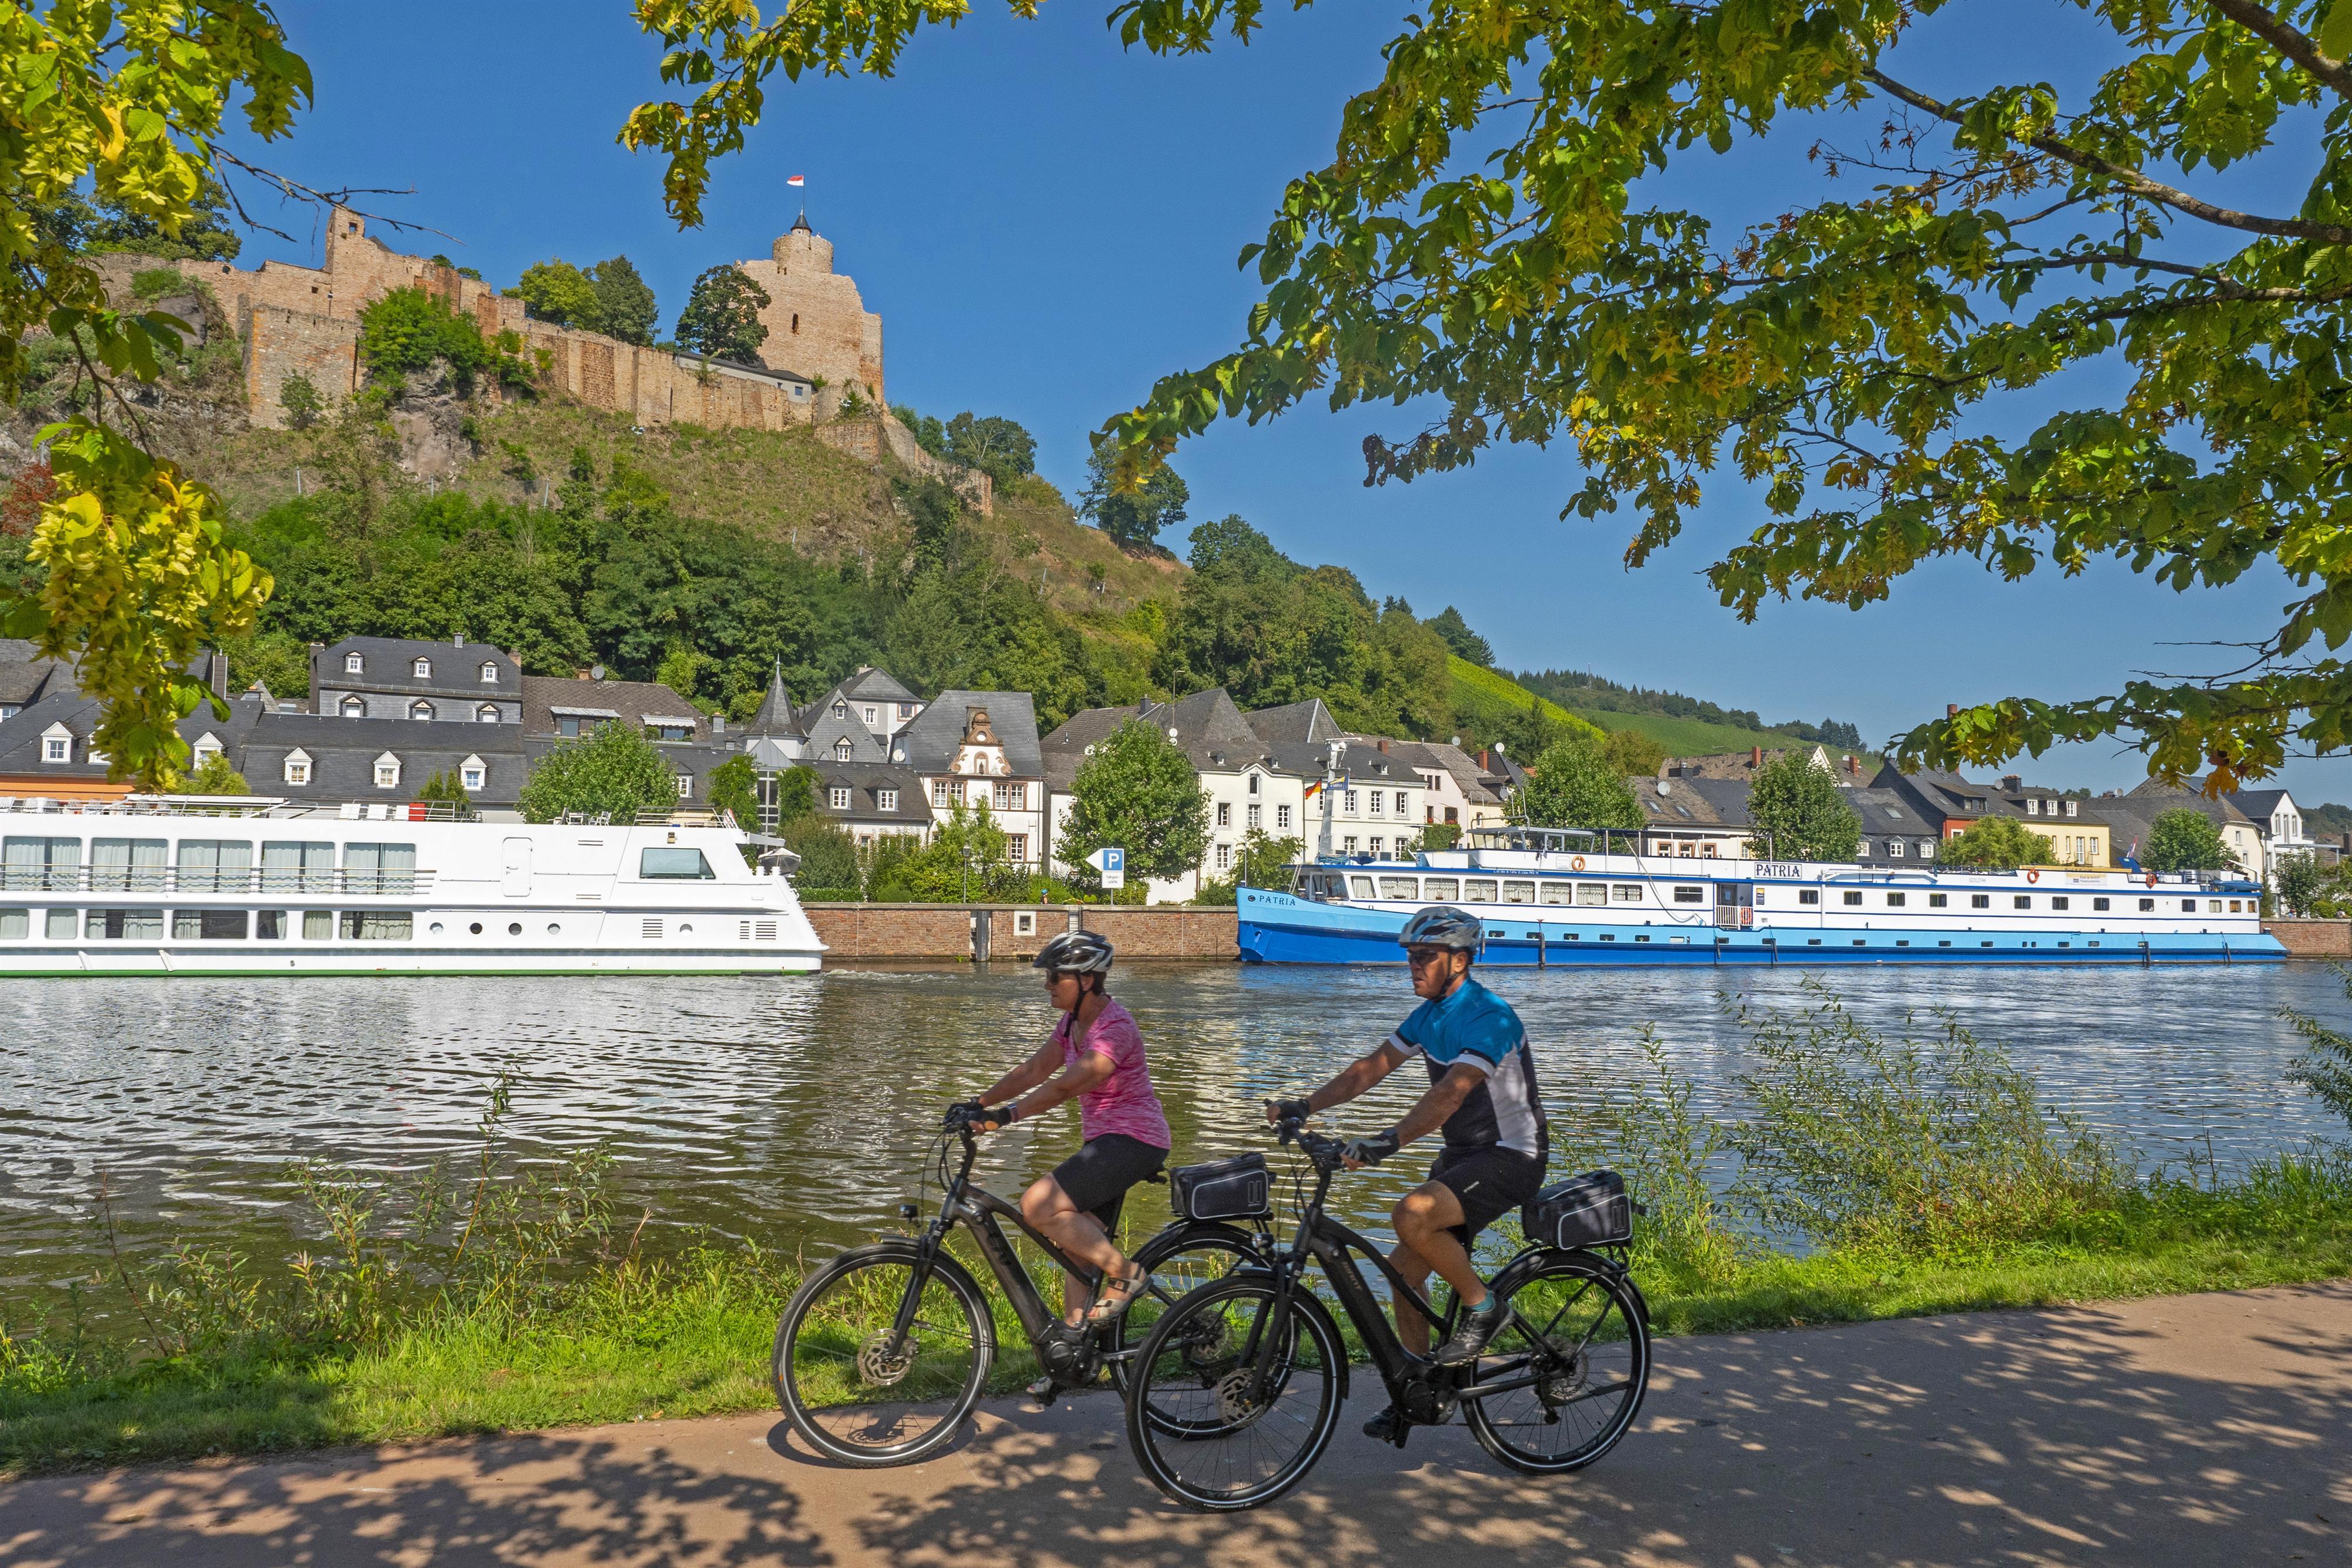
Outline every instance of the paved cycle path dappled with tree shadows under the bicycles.
<path id="1" fill-rule="evenodd" d="M 743 1415 L 24 1481 L 0 1563 L 2352 1563 L 2352 1281 L 1665 1340 L 1639 1427 L 1550 1481 L 1458 1425 L 1371 1443 L 1376 1403 L 1240 1516 L 1164 1502 L 1098 1394 L 884 1472 Z"/>

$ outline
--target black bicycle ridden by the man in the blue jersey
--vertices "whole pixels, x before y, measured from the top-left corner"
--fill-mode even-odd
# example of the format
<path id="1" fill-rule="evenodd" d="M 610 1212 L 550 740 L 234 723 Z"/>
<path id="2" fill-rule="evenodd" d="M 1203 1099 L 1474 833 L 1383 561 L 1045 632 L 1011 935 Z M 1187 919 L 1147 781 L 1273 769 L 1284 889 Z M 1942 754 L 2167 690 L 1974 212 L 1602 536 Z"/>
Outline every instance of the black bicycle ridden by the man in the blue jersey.
<path id="1" fill-rule="evenodd" d="M 1308 1262 L 1322 1265 L 1390 1401 L 1414 1425 L 1442 1425 L 1461 1406 L 1479 1446 L 1529 1474 L 1583 1469 L 1625 1436 L 1649 1387 L 1649 1302 L 1621 1244 L 1522 1248 L 1489 1286 L 1510 1316 L 1486 1354 L 1437 1366 L 1397 1342 L 1355 1253 L 1435 1326 L 1435 1342 L 1451 1333 L 1458 1302 L 1437 1312 L 1378 1246 L 1331 1220 L 1324 1199 L 1343 1168 L 1341 1140 L 1284 1121 L 1282 1143 L 1294 1138 L 1315 1171 L 1296 1241 L 1162 1312 L 1131 1368 L 1127 1441 L 1162 1493 L 1202 1512 L 1261 1507 L 1298 1486 L 1331 1443 L 1348 1349 L 1308 1286 Z M 1395 1436 L 1399 1448 L 1406 1432 Z"/>

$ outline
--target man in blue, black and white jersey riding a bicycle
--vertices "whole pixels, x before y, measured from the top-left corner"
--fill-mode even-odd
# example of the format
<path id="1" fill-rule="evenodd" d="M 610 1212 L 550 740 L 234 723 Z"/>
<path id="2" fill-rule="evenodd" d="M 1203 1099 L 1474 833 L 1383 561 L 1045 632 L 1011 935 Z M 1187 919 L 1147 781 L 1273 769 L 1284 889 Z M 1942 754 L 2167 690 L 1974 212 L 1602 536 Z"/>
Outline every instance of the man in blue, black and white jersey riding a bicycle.
<path id="1" fill-rule="evenodd" d="M 1397 1248 L 1390 1262 L 1416 1291 L 1428 1284 L 1430 1269 L 1454 1286 L 1463 1309 L 1437 1361 L 1456 1366 L 1475 1361 L 1505 1316 L 1470 1262 L 1470 1244 L 1543 1187 L 1550 1126 L 1536 1098 L 1536 1063 L 1519 1016 L 1470 978 L 1484 945 L 1477 917 L 1430 905 L 1404 922 L 1397 943 L 1411 961 L 1421 1006 L 1376 1051 L 1308 1098 L 1270 1103 L 1265 1119 L 1303 1121 L 1345 1105 L 1416 1056 L 1428 1063 L 1428 1093 L 1385 1133 L 1350 1138 L 1345 1157 L 1348 1168 L 1376 1166 L 1406 1143 L 1444 1128 L 1446 1147 L 1430 1166 L 1430 1180 L 1392 1211 Z M 1430 1326 L 1404 1298 L 1397 1298 L 1397 1340 L 1409 1352 L 1428 1354 Z M 1364 1434 L 1399 1441 L 1404 1425 L 1404 1413 L 1390 1406 L 1364 1422 Z"/>

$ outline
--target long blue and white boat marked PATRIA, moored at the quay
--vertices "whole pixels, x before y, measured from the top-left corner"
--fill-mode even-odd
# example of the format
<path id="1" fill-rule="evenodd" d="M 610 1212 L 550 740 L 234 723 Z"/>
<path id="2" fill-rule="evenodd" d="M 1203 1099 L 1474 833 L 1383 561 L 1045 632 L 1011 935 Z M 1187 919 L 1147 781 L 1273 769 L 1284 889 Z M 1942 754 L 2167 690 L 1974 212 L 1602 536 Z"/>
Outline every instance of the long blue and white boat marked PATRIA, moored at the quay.
<path id="1" fill-rule="evenodd" d="M 2246 964 L 2286 957 L 2263 891 L 2211 872 L 1891 870 L 1616 853 L 1632 835 L 1470 832 L 1411 860 L 1301 865 L 1242 889 L 1254 964 L 1397 964 L 1432 903 L 1486 922 L 1486 964 Z"/>

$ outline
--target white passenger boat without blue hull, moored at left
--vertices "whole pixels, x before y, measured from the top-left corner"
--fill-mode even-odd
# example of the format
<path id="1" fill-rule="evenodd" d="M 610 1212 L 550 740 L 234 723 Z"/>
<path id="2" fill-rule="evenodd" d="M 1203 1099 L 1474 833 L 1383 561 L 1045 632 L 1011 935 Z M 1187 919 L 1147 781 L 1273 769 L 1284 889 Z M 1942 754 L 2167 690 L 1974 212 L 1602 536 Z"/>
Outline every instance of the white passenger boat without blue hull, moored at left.
<path id="1" fill-rule="evenodd" d="M 0 802 L 0 976 L 793 973 L 790 856 L 724 816 L 485 823 L 263 797 Z"/>

